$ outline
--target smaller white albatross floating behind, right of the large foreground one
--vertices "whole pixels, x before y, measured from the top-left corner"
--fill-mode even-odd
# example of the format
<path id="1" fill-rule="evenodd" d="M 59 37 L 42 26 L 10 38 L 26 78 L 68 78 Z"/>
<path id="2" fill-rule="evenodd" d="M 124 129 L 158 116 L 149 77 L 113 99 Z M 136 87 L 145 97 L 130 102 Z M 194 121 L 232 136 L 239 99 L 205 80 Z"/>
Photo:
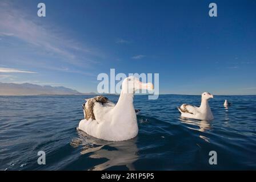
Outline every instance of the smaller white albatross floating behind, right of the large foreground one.
<path id="1" fill-rule="evenodd" d="M 202 93 L 200 107 L 182 104 L 180 107 L 178 107 L 178 110 L 181 112 L 181 117 L 206 121 L 212 120 L 213 113 L 211 113 L 211 109 L 208 104 L 208 100 L 210 98 L 213 98 L 213 95 L 208 92 L 204 92 Z"/>

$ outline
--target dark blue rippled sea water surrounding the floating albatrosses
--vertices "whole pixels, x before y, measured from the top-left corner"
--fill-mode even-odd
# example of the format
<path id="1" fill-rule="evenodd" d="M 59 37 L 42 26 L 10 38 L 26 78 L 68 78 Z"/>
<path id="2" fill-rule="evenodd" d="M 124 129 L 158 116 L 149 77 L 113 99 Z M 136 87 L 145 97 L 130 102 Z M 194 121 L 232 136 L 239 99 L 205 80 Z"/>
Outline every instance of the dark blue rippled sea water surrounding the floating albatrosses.
<path id="1" fill-rule="evenodd" d="M 0 97 L 0 169 L 256 169 L 256 96 L 215 96 L 211 122 L 179 117 L 177 106 L 199 105 L 200 96 L 135 96 L 139 134 L 123 142 L 77 131 L 89 97 Z M 45 165 L 37 163 L 38 151 L 46 152 Z M 209 164 L 210 151 L 217 165 Z"/>

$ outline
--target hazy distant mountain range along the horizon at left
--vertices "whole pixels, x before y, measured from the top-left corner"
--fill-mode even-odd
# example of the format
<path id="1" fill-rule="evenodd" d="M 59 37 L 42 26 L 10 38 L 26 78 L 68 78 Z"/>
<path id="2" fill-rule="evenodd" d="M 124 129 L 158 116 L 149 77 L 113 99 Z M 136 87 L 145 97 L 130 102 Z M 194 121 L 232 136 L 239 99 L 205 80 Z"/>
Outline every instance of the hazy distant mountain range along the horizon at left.
<path id="1" fill-rule="evenodd" d="M 95 93 L 81 93 L 64 86 L 49 86 L 35 84 L 13 84 L 0 82 L 0 96 L 35 96 L 35 95 L 83 95 Z"/>

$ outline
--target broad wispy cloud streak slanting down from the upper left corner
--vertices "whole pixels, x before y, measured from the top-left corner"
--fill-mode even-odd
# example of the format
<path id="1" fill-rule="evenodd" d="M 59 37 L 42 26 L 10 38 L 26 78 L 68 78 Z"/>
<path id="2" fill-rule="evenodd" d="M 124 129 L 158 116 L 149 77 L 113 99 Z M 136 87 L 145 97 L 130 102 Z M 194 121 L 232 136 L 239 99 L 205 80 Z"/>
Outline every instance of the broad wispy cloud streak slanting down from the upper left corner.
<path id="1" fill-rule="evenodd" d="M 87 61 L 102 57 L 95 48 L 84 46 L 83 42 L 65 35 L 61 29 L 50 24 L 42 24 L 38 17 L 29 16 L 9 1 L 0 2 L 0 36 L 12 36 L 40 49 L 41 53 L 58 56 L 64 63 L 83 67 L 97 61 Z M 86 63 L 86 64 L 85 64 Z"/>

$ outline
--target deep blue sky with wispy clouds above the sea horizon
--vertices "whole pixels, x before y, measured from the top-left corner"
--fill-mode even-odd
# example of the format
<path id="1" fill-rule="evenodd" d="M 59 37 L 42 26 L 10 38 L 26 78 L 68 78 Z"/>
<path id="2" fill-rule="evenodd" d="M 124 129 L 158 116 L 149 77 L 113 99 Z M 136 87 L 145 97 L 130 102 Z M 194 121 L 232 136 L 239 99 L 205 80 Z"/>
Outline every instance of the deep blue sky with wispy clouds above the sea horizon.
<path id="1" fill-rule="evenodd" d="M 46 17 L 38 17 L 38 3 Z M 217 4 L 217 17 L 209 4 Z M 0 1 L 0 82 L 97 92 L 159 73 L 161 94 L 256 94 L 256 1 Z"/>

